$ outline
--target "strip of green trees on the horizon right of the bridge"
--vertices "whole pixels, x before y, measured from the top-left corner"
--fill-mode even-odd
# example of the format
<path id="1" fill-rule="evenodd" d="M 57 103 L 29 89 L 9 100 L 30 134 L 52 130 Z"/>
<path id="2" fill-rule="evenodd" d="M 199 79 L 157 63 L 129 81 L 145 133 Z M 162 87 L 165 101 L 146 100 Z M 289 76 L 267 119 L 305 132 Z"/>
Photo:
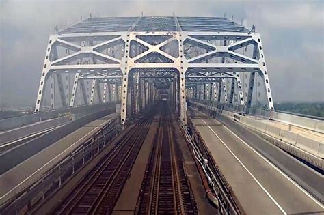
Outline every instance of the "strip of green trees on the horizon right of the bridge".
<path id="1" fill-rule="evenodd" d="M 279 111 L 288 111 L 293 113 L 301 113 L 304 115 L 312 115 L 315 117 L 324 117 L 324 102 L 313 103 L 275 103 L 275 109 Z"/>

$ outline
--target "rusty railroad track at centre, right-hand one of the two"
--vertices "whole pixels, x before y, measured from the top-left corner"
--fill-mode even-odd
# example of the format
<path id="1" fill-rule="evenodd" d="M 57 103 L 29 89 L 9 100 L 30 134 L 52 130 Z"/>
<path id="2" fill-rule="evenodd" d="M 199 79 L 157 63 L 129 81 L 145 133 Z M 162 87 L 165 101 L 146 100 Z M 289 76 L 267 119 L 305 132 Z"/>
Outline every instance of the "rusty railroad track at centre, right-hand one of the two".
<path id="1" fill-rule="evenodd" d="M 169 109 L 163 108 L 137 201 L 137 214 L 198 214 L 170 117 Z"/>

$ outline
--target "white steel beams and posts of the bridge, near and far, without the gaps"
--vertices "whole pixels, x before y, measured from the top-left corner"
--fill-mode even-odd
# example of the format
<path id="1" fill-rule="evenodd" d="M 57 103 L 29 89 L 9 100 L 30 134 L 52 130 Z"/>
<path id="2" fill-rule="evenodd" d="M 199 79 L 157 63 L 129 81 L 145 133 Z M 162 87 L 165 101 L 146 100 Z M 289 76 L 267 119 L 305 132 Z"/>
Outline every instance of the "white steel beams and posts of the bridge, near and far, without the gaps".
<path id="1" fill-rule="evenodd" d="M 166 39 L 161 40 L 163 37 Z M 98 38 L 104 41 L 94 44 L 93 41 Z M 159 42 L 154 38 L 159 38 Z M 175 40 L 178 44 L 175 55 L 162 51 L 161 47 L 170 42 L 174 43 Z M 213 40 L 224 42 L 224 44 L 215 45 L 212 42 Z M 89 42 L 90 45 L 85 46 L 86 42 Z M 131 42 L 137 42 L 139 46 L 146 48 L 144 51 L 139 51 L 140 48 L 137 48 L 136 55 L 131 57 L 131 52 L 134 53 L 134 50 L 136 50 Z M 187 59 L 188 53 L 184 48 L 185 43 L 200 47 L 206 50 L 206 53 Z M 121 59 L 100 53 L 102 49 L 113 47 L 116 44 L 123 45 Z M 235 52 L 237 49 L 248 45 L 254 46 L 253 57 Z M 59 58 L 57 46 L 75 51 L 75 53 Z M 148 56 L 153 56 L 155 60 L 146 58 Z M 82 61 L 83 57 L 92 57 L 92 64 L 70 64 L 75 59 Z M 228 57 L 233 60 L 233 63 L 225 63 L 224 61 L 214 63 L 210 61 L 213 57 Z M 96 59 L 105 63 L 98 63 Z M 156 59 L 159 59 L 159 62 Z M 62 74 L 67 73 L 75 75 L 75 81 L 70 96 L 68 96 L 69 101 L 66 101 L 66 89 L 64 89 L 68 87 L 63 87 L 62 82 Z M 243 96 L 243 87 L 241 87 L 240 74 L 243 73 L 250 74 L 247 100 Z M 274 111 L 269 72 L 265 63 L 260 34 L 249 31 L 227 18 L 176 16 L 89 18 L 64 31 L 50 35 L 40 77 L 35 112 L 38 113 L 42 110 L 41 105 L 44 100 L 46 83 L 51 81 L 53 84 L 54 75 L 57 77 L 59 97 L 62 100 L 63 107 L 75 105 L 78 86 L 81 88 L 84 103 L 90 105 L 94 104 L 95 92 L 98 95 L 99 102 L 108 102 L 108 99 L 106 100 L 107 94 L 109 94 L 109 102 L 111 102 L 111 88 L 114 89 L 113 97 L 117 100 L 118 92 L 116 90 L 120 86 L 122 123 L 126 121 L 128 104 L 133 102 L 135 112 L 138 112 L 139 100 L 143 100 L 143 96 L 140 98 L 139 92 L 154 96 L 157 93 L 154 84 L 169 83 L 166 86 L 169 87 L 169 90 L 173 90 L 170 94 L 175 95 L 174 98 L 177 103 L 175 106 L 180 113 L 180 120 L 186 125 L 186 97 L 198 98 L 200 89 L 203 89 L 200 96 L 205 95 L 204 98 L 209 100 L 213 98 L 218 102 L 221 102 L 220 94 L 223 94 L 226 103 L 233 102 L 234 91 L 237 91 L 239 104 L 250 106 L 255 74 L 259 74 L 262 78 L 267 96 L 267 106 Z M 226 82 L 224 81 L 226 78 L 232 79 L 230 99 L 228 99 L 226 92 Z M 90 102 L 87 101 L 85 94 L 85 79 L 92 80 Z M 104 85 L 102 86 L 100 83 L 104 83 Z M 143 83 L 144 88 L 141 86 Z M 213 87 L 211 87 L 212 85 Z M 218 90 L 217 85 L 219 86 Z M 152 89 L 148 86 L 152 86 Z M 131 87 L 134 89 L 135 96 L 131 96 L 131 90 L 129 90 Z M 146 92 L 146 88 L 151 92 Z M 103 91 L 103 94 L 101 91 Z M 53 94 L 55 94 L 55 89 L 51 85 L 51 108 L 55 109 L 55 95 Z M 131 102 L 129 102 L 130 99 Z M 154 100 L 154 98 L 149 99 Z"/>

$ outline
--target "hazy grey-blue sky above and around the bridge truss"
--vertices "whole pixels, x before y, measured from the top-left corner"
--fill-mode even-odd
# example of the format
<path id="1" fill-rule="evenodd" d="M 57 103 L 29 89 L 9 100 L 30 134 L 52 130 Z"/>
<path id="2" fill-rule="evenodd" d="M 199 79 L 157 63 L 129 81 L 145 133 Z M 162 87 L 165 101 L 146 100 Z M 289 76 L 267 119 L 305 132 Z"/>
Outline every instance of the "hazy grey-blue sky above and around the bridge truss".
<path id="1" fill-rule="evenodd" d="M 324 1 L 0 0 L 0 104 L 33 104 L 44 53 L 59 29 L 92 17 L 226 16 L 256 25 L 274 102 L 324 101 Z"/>

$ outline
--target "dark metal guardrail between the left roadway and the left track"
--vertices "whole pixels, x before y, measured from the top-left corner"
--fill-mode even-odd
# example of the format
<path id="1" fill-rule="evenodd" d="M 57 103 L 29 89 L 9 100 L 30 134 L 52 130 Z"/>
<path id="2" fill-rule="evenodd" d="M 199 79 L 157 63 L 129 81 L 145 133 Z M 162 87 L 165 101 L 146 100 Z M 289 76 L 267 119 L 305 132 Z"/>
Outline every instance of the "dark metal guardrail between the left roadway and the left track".
<path id="1" fill-rule="evenodd" d="M 121 132 L 120 117 L 112 119 L 73 152 L 62 158 L 39 180 L 1 205 L 0 214 L 26 214 L 51 197 Z"/>

